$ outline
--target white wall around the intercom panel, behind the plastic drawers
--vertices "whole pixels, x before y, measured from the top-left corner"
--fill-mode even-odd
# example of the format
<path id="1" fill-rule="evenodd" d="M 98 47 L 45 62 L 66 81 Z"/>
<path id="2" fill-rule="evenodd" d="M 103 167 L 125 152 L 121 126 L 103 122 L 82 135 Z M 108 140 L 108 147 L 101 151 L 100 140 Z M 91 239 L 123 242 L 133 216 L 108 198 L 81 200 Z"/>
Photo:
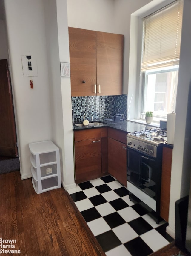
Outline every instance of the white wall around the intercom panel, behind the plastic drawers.
<path id="1" fill-rule="evenodd" d="M 40 0 L 6 0 L 5 13 L 21 177 L 27 178 L 31 177 L 28 143 L 52 139 L 44 8 Z M 36 58 L 38 76 L 23 76 L 21 55 Z"/>

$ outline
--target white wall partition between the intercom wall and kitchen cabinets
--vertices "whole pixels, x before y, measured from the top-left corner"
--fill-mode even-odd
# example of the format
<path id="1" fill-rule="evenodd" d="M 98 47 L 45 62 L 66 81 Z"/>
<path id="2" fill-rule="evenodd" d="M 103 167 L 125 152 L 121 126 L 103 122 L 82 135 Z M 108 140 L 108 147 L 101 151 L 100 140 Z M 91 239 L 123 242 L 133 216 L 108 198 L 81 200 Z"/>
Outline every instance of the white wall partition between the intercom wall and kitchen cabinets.
<path id="1" fill-rule="evenodd" d="M 70 62 L 66 0 L 44 0 L 53 142 L 60 148 L 61 179 L 75 186 L 70 77 L 60 77 L 60 62 Z"/>

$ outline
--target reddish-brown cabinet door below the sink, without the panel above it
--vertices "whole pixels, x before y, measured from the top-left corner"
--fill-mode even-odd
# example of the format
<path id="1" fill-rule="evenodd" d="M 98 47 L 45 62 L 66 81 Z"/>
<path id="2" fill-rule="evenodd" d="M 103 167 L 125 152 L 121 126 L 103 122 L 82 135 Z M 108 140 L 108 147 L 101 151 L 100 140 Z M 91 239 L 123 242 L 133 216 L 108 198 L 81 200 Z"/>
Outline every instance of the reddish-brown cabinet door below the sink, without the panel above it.
<path id="1" fill-rule="evenodd" d="M 75 142 L 76 182 L 101 174 L 101 138 Z"/>

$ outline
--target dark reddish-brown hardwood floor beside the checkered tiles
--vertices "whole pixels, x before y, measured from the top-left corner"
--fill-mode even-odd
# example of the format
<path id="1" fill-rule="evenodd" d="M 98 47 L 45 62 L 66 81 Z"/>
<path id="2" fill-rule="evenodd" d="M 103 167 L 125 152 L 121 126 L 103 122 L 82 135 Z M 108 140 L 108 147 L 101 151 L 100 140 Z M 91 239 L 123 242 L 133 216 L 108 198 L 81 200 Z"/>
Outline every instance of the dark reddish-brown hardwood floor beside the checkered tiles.
<path id="1" fill-rule="evenodd" d="M 0 175 L 0 193 L 0 237 L 16 239 L 8 250 L 31 256 L 105 255 L 63 188 L 37 195 L 31 179 L 21 180 L 15 171 Z"/>

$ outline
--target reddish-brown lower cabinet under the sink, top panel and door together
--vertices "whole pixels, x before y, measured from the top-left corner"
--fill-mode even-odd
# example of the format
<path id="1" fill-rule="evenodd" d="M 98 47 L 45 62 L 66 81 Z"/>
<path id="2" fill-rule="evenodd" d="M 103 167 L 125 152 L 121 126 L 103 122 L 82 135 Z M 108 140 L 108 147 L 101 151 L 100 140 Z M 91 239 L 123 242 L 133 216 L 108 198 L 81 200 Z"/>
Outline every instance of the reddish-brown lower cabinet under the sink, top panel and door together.
<path id="1" fill-rule="evenodd" d="M 102 137 L 102 138 L 101 138 Z M 107 127 L 74 131 L 75 182 L 81 183 L 107 173 Z"/>

